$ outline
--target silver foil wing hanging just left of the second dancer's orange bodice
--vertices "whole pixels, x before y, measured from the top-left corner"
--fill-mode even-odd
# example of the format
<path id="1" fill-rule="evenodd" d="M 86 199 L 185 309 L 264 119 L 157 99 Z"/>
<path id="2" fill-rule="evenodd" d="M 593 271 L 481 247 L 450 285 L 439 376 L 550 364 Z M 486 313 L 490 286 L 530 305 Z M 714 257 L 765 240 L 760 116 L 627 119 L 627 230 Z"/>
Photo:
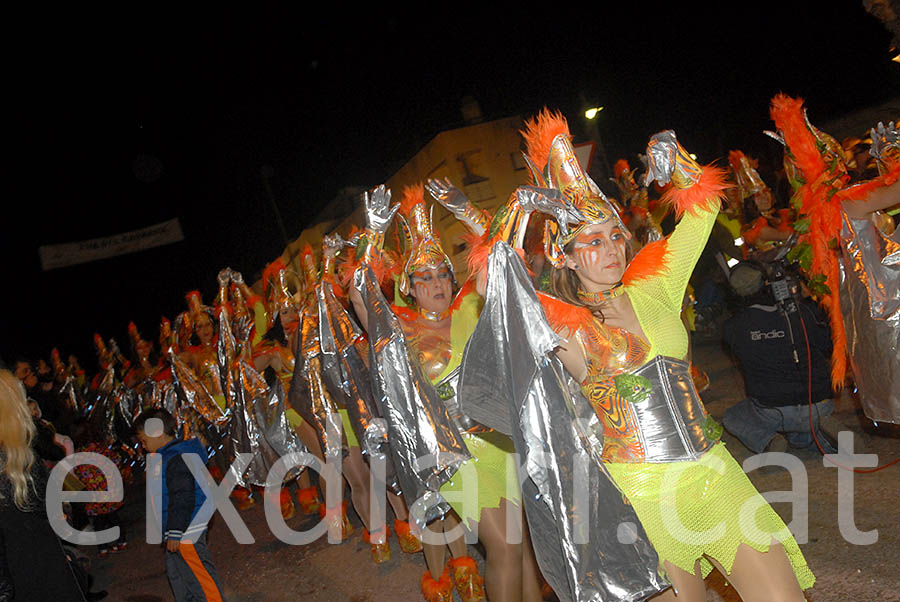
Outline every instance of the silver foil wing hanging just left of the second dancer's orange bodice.
<path id="1" fill-rule="evenodd" d="M 372 270 L 358 269 L 354 286 L 368 313 L 369 365 L 377 366 L 372 389 L 387 423 L 397 479 L 417 522 L 430 522 L 449 510 L 439 490 L 471 456 L 434 386 L 410 360 L 403 330 Z"/>

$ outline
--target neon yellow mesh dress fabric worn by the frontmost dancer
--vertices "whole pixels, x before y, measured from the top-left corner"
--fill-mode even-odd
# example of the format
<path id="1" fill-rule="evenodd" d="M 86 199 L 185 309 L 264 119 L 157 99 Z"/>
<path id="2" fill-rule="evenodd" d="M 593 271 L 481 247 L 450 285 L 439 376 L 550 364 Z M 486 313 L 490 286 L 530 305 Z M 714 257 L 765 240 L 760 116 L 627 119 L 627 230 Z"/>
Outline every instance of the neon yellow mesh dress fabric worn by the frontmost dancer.
<path id="1" fill-rule="evenodd" d="M 715 209 L 706 209 L 696 215 L 685 214 L 668 239 L 665 272 L 626 285 L 625 294 L 631 300 L 650 346 L 647 348 L 644 341 L 638 339 L 643 353 L 636 354 L 630 358 L 632 361 L 624 364 L 597 365 L 599 358 L 588 357 L 591 366 L 582 389 L 589 400 L 595 388 L 603 386 L 608 377 L 633 370 L 657 355 L 685 356 L 688 338 L 680 318 L 681 301 L 717 213 Z M 579 332 L 579 336 L 584 334 Z M 602 419 L 609 417 L 609 414 L 601 415 Z M 609 432 L 606 427 L 605 422 L 604 434 Z M 607 444 L 603 451 L 606 456 Z M 668 560 L 692 573 L 694 562 L 699 558 L 705 577 L 713 568 L 703 557 L 705 554 L 718 560 L 730 572 L 741 543 L 765 552 L 774 539 L 784 546 L 800 586 L 803 589 L 812 587 L 815 577 L 797 542 L 724 444 L 716 444 L 698 462 L 651 464 L 611 460 L 606 467 L 634 506 L 659 553 L 660 562 Z M 765 535 L 749 536 L 757 531 L 742 525 L 741 519 L 746 517 L 736 511 L 745 504 L 755 508 L 749 517 L 755 521 L 759 533 Z M 720 525 L 724 525 L 724 529 Z M 718 529 L 721 533 L 716 531 L 718 536 L 713 539 L 706 534 L 710 529 Z"/>

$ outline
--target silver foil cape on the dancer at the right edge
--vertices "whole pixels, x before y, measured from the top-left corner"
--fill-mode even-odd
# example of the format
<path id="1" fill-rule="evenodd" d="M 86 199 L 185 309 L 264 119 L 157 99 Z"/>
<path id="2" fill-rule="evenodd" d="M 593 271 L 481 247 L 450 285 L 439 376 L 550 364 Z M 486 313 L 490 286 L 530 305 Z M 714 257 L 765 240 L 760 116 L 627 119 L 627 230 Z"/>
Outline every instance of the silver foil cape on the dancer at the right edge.
<path id="1" fill-rule="evenodd" d="M 900 230 L 887 237 L 844 215 L 841 312 L 850 365 L 866 416 L 900 423 Z"/>

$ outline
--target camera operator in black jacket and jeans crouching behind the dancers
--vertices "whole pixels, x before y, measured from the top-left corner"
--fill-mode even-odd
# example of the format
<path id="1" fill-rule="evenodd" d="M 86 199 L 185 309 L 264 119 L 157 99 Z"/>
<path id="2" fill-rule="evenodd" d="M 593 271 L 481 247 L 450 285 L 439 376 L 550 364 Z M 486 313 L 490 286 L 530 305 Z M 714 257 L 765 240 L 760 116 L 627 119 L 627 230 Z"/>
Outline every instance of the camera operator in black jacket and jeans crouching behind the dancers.
<path id="1" fill-rule="evenodd" d="M 725 428 L 754 453 L 785 451 L 788 445 L 817 449 L 812 411 L 819 443 L 826 452 L 836 451 L 840 424 L 831 417 L 832 343 L 824 315 L 811 299 L 785 294 L 780 273 L 767 282 L 762 266 L 738 264 L 729 282 L 743 307 L 725 322 L 724 341 L 741 365 L 747 398 L 725 411 Z"/>

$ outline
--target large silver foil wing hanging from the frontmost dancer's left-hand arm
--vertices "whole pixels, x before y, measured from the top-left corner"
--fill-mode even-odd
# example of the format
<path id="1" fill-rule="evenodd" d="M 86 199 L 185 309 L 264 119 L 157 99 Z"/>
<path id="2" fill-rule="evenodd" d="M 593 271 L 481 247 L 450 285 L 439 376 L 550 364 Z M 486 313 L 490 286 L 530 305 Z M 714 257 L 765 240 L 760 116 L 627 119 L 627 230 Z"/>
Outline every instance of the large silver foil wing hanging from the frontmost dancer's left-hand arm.
<path id="1" fill-rule="evenodd" d="M 508 245 L 495 245 L 484 308 L 462 363 L 463 411 L 479 421 L 491 414 L 508 420 L 524 458 L 531 541 L 559 599 L 644 600 L 668 583 L 637 515 L 600 462 L 595 414 L 552 353 L 559 341 L 521 259 Z"/>

